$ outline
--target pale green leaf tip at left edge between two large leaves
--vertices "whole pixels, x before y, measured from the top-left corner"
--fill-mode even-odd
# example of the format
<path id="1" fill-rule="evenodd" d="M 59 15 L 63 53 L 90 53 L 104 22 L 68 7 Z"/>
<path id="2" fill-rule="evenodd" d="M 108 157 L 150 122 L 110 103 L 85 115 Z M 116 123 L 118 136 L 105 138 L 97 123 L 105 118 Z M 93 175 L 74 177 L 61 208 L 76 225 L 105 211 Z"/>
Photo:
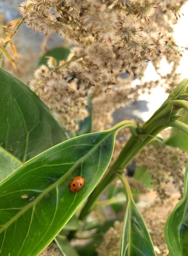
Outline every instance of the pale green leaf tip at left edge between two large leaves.
<path id="1" fill-rule="evenodd" d="M 22 162 L 0 147 L 0 181 L 16 170 Z"/>

